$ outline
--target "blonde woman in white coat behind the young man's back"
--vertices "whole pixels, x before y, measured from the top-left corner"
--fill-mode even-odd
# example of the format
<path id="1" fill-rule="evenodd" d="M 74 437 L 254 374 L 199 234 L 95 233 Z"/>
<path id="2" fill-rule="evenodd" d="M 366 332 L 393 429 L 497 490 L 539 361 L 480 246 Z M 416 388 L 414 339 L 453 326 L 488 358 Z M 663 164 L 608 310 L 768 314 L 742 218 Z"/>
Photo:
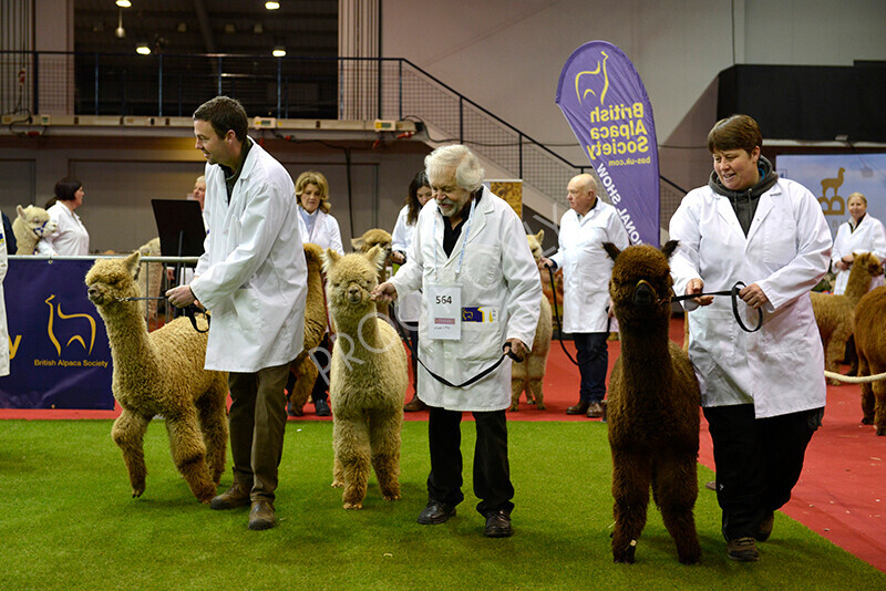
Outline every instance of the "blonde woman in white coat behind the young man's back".
<path id="1" fill-rule="evenodd" d="M 323 174 L 317 170 L 306 170 L 298 175 L 296 198 L 298 199 L 298 210 L 306 229 L 302 242 L 311 242 L 323 249 L 331 248 L 339 255 L 344 255 L 344 249 L 341 246 L 339 222 L 329 215 L 329 209 L 332 206 L 329 204 L 329 182 L 327 182 Z M 327 381 L 330 357 L 328 354 L 323 354 L 323 352 L 331 351 L 329 333 L 323 335 L 319 348 L 320 351 L 315 359 L 321 363 L 321 367 L 320 374 L 313 383 L 311 401 L 317 416 L 329 416 L 332 414 L 328 403 L 329 382 Z"/>

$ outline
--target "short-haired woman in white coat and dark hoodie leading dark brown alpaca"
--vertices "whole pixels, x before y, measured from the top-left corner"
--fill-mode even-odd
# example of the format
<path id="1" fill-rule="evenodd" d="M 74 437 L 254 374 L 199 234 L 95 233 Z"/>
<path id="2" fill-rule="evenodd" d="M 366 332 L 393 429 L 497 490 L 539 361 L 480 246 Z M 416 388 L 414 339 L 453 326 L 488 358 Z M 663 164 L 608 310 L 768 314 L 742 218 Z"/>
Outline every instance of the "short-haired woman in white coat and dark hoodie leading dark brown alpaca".
<path id="1" fill-rule="evenodd" d="M 743 332 L 729 297 L 687 302 L 689 356 L 701 385 L 717 465 L 727 553 L 759 560 L 755 539 L 772 532 L 791 498 L 825 405 L 824 352 L 810 290 L 824 277 L 831 232 L 816 198 L 781 179 L 761 156 L 748 115 L 719 121 L 708 135 L 713 173 L 673 214 L 674 292 L 739 292 Z M 702 308 L 698 308 L 701 305 Z"/>

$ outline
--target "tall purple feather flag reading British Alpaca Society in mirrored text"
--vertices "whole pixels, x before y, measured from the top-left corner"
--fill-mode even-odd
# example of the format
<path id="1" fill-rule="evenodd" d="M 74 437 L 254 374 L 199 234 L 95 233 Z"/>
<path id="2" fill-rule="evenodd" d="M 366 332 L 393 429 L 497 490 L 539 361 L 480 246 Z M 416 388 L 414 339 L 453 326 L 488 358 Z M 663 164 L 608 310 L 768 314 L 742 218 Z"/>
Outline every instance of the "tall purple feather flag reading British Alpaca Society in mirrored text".
<path id="1" fill-rule="evenodd" d="M 652 106 L 620 49 L 585 43 L 569 55 L 557 105 L 573 128 L 632 243 L 659 245 L 659 173 Z"/>

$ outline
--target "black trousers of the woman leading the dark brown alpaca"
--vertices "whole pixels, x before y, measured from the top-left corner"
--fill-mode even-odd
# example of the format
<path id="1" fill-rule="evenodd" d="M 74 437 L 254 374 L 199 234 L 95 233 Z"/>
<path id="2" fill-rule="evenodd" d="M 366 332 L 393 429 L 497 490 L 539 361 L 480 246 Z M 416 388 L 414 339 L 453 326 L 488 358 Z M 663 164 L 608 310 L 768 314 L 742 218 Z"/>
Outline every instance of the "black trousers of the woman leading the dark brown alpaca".
<path id="1" fill-rule="evenodd" d="M 791 499 L 822 412 L 754 418 L 753 404 L 704 408 L 727 541 L 754 536 L 763 517 Z"/>

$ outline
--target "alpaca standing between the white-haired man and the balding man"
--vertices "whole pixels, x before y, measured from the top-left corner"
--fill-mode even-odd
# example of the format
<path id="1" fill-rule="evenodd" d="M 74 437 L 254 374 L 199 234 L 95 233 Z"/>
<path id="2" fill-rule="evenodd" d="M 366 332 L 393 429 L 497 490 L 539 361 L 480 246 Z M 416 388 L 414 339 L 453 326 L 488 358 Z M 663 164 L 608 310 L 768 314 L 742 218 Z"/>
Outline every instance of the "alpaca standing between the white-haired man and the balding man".
<path id="1" fill-rule="evenodd" d="M 542 249 L 542 240 L 544 238 L 545 230 L 538 230 L 536 235 L 526 236 L 536 263 L 544 253 Z M 542 312 L 538 314 L 538 326 L 535 330 L 533 349 L 525 360 L 511 364 L 512 411 L 519 409 L 519 395 L 523 392 L 526 392 L 526 402 L 528 404 L 535 404 L 539 411 L 545 409 L 545 394 L 542 387 L 545 379 L 545 369 L 547 367 L 547 354 L 550 352 L 550 336 L 554 333 L 552 322 L 550 302 L 547 301 L 547 298 L 542 298 Z"/>

